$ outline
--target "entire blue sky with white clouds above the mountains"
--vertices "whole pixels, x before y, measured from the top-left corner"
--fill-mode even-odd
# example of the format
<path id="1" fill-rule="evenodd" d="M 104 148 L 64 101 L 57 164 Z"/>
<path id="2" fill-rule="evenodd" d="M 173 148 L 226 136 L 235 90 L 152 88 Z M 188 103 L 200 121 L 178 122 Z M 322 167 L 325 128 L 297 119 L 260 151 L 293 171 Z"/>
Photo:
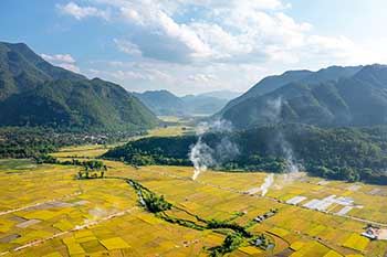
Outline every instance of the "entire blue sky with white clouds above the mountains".
<path id="1" fill-rule="evenodd" d="M 1 0 L 0 41 L 130 92 L 245 92 L 268 75 L 387 64 L 385 0 Z"/>

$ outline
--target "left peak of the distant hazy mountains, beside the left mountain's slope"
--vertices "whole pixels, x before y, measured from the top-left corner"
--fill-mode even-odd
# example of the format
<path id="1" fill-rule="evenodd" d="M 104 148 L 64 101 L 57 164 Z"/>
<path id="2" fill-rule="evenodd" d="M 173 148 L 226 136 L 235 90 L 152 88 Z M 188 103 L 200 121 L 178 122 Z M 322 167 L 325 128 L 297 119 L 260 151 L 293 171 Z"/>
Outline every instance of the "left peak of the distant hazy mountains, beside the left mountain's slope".
<path id="1" fill-rule="evenodd" d="M 134 93 L 149 109 L 159 116 L 186 115 L 185 103 L 168 90 Z"/>

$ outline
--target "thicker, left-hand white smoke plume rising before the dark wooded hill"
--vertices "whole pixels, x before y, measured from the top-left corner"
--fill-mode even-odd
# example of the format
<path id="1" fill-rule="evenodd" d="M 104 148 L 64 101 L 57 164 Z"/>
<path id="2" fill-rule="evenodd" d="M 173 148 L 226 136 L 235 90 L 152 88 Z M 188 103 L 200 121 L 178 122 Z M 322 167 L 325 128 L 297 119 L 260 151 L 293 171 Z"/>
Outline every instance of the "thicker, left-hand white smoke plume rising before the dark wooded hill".
<path id="1" fill-rule="evenodd" d="M 231 132 L 231 122 L 226 120 L 216 120 L 213 122 L 201 122 L 196 129 L 198 141 L 191 147 L 189 160 L 194 164 L 192 180 L 196 180 L 208 167 L 219 165 L 239 154 L 238 146 L 224 135 L 220 142 L 210 148 L 202 138 L 207 132 Z"/>

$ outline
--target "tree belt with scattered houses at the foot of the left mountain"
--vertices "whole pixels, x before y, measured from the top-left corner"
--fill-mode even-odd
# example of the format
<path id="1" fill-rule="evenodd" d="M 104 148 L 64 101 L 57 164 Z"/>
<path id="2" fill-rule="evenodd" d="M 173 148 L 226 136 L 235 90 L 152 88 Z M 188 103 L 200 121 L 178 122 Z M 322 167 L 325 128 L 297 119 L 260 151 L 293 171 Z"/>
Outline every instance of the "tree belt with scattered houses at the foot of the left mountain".
<path id="1" fill-rule="evenodd" d="M 0 128 L 0 158 L 39 158 L 61 147 L 107 144 L 145 132 L 81 132 L 42 127 Z"/>

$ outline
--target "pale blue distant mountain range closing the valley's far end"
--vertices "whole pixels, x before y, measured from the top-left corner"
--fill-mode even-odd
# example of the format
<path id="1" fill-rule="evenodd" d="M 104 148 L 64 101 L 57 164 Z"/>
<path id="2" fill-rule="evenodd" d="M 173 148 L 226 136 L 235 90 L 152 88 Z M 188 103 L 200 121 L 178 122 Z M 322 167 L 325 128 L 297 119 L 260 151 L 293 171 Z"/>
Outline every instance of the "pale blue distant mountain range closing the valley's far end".
<path id="1" fill-rule="evenodd" d="M 218 90 L 178 97 L 168 90 L 133 93 L 159 116 L 213 115 L 240 93 Z"/>

